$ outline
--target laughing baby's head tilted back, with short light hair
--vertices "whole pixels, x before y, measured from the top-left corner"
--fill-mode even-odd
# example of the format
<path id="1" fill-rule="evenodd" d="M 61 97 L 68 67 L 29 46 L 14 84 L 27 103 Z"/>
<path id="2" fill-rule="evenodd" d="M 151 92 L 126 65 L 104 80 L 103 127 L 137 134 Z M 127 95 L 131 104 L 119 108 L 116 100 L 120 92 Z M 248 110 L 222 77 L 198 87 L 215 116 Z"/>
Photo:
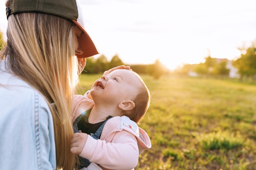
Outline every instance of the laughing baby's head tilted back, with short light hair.
<path id="1" fill-rule="evenodd" d="M 103 75 L 91 90 L 92 98 L 106 104 L 118 106 L 121 115 L 139 123 L 150 104 L 150 93 L 143 79 L 134 71 L 117 69 Z"/>

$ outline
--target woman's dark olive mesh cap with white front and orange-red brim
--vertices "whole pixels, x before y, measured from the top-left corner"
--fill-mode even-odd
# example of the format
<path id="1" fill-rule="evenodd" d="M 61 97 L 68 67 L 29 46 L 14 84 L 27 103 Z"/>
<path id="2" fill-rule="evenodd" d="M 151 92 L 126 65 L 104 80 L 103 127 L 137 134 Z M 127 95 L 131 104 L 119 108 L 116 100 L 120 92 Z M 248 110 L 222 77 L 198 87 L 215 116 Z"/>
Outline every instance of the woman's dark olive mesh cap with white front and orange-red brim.
<path id="1" fill-rule="evenodd" d="M 72 20 L 84 32 L 80 36 L 83 54 L 77 57 L 85 58 L 99 54 L 92 39 L 85 31 L 83 12 L 78 0 L 12 0 L 11 7 L 6 8 L 7 19 L 11 14 L 24 12 L 47 13 Z"/>

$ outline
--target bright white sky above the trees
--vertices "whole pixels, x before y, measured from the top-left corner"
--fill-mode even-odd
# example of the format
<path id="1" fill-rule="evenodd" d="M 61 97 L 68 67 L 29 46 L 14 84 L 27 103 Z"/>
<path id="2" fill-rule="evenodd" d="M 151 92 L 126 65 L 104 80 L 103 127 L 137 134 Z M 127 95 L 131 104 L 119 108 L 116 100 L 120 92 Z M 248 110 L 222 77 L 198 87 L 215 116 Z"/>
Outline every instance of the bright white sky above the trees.
<path id="1" fill-rule="evenodd" d="M 5 34 L 5 0 L 0 30 Z M 256 40 L 256 0 L 80 0 L 100 55 L 125 64 L 159 60 L 175 69 L 204 58 L 240 56 Z M 95 55 L 95 58 L 99 55 Z"/>

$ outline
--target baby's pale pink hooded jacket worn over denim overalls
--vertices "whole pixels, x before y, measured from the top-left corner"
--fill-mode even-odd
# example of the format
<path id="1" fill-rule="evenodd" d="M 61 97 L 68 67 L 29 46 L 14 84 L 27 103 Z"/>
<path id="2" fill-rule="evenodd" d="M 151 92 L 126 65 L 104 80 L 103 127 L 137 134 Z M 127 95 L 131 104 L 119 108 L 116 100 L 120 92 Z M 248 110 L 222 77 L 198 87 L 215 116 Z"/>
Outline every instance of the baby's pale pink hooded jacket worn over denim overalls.
<path id="1" fill-rule="evenodd" d="M 86 94 L 75 95 L 73 122 L 93 106 L 94 102 Z M 137 166 L 139 154 L 149 148 L 151 142 L 148 134 L 128 117 L 117 116 L 106 122 L 100 139 L 96 140 L 88 135 L 80 156 L 89 159 L 92 166 L 96 166 L 96 163 L 108 169 L 133 170 Z"/>

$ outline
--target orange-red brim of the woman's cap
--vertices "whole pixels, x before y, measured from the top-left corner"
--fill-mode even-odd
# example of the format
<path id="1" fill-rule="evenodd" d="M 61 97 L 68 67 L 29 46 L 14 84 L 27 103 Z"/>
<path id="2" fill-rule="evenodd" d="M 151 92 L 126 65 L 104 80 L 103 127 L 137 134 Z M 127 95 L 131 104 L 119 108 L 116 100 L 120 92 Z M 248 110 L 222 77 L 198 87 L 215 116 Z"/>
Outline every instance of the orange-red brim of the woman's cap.
<path id="1" fill-rule="evenodd" d="M 94 45 L 92 39 L 88 35 L 88 33 L 85 31 L 84 27 L 77 21 L 72 20 L 79 28 L 83 31 L 83 34 L 79 38 L 79 44 L 81 48 L 83 49 L 83 54 L 76 55 L 79 58 L 86 58 L 91 57 L 93 55 L 99 54 L 99 51 L 97 50 L 97 47 Z"/>

